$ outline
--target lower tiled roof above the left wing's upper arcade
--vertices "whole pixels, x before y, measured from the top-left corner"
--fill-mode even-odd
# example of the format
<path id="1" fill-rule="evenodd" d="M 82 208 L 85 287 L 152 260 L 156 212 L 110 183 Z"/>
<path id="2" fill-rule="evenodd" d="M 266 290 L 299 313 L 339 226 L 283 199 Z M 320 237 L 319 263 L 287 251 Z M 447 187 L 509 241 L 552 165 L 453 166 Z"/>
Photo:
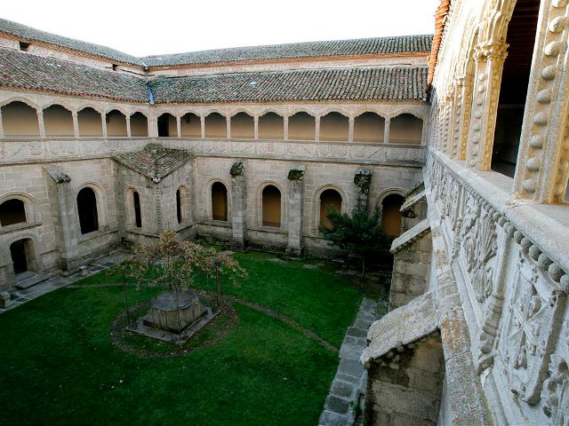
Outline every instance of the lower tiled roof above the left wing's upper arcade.
<path id="1" fill-rule="evenodd" d="M 148 102 L 140 78 L 10 49 L 0 49 L 0 86 Z"/>

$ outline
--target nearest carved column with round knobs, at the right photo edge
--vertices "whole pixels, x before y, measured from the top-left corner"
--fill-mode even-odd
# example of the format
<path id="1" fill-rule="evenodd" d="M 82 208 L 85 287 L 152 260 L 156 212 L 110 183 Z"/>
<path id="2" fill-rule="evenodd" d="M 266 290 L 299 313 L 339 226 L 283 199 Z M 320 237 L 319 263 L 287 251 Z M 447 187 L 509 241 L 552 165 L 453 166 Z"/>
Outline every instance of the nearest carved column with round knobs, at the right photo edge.
<path id="1" fill-rule="evenodd" d="M 538 40 L 520 137 L 514 193 L 517 198 L 555 203 L 564 199 L 569 177 L 569 74 L 566 2 L 551 2 Z M 546 10 L 547 10 L 546 9 Z"/>

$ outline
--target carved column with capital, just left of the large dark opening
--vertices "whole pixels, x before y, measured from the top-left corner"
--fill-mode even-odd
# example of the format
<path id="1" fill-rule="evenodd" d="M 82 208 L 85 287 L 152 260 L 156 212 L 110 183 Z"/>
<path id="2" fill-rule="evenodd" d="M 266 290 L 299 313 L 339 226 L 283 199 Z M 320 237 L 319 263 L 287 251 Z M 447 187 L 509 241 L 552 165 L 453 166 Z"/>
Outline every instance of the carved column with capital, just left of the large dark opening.
<path id="1" fill-rule="evenodd" d="M 476 74 L 466 160 L 469 169 L 490 170 L 501 72 L 508 46 L 490 42 L 475 47 Z"/>

